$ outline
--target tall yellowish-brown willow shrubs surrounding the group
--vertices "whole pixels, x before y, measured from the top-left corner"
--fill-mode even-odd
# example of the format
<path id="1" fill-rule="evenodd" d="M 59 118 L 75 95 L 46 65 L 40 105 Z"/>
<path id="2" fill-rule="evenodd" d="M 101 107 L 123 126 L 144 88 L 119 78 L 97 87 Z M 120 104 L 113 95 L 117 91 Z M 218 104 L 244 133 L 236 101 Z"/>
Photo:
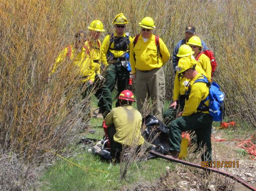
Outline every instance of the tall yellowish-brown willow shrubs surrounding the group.
<path id="1" fill-rule="evenodd" d="M 0 2 L 0 143 L 28 158 L 43 156 L 48 149 L 61 150 L 74 131 L 81 105 L 77 78 L 66 61 L 49 76 L 58 53 L 72 42 L 76 31 L 100 19 L 107 33 L 122 12 L 127 31 L 139 33 L 138 22 L 151 16 L 172 55 L 184 38 L 186 25 L 215 53 L 215 80 L 226 93 L 227 116 L 256 126 L 255 1 L 149 1 L 149 0 L 2 0 Z M 171 99 L 172 60 L 165 65 L 166 99 Z M 86 104 L 89 105 L 89 104 Z M 88 109 L 87 109 L 88 110 Z M 88 124 L 84 124 L 87 125 Z"/>

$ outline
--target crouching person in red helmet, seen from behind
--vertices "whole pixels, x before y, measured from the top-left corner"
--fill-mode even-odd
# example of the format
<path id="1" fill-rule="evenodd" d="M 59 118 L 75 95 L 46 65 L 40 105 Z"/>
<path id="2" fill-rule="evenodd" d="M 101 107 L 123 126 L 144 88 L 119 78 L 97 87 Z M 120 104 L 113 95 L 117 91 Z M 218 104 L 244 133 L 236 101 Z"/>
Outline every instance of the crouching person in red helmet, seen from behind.
<path id="1" fill-rule="evenodd" d="M 120 161 L 120 153 L 123 147 L 134 147 L 138 152 L 144 143 L 141 135 L 142 117 L 138 110 L 132 107 L 136 102 L 134 95 L 129 90 L 124 90 L 119 97 L 120 107 L 116 107 L 106 115 L 105 125 L 109 136 L 111 157 Z"/>

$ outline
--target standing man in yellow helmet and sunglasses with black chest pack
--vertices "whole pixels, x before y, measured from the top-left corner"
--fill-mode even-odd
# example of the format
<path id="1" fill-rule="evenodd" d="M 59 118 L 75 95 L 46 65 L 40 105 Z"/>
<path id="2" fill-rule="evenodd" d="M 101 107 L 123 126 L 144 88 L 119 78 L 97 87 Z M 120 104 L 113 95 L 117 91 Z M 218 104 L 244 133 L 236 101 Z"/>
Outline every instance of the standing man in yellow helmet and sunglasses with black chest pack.
<path id="1" fill-rule="evenodd" d="M 128 85 L 129 44 L 132 38 L 129 33 L 125 33 L 128 20 L 123 13 L 114 18 L 113 24 L 115 31 L 107 35 L 102 42 L 101 60 L 106 67 L 106 87 L 112 92 L 117 83 L 119 95 Z M 116 107 L 118 106 L 119 102 L 116 102 Z"/>

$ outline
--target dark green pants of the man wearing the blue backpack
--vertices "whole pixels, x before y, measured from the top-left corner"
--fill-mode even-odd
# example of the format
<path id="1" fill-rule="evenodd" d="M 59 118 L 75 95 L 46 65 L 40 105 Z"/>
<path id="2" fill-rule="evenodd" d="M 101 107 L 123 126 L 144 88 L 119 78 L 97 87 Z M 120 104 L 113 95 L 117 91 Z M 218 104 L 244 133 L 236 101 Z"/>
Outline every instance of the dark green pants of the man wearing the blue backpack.
<path id="1" fill-rule="evenodd" d="M 197 146 L 206 151 L 201 156 L 202 161 L 211 161 L 211 127 L 212 117 L 206 113 L 193 113 L 190 116 L 181 116 L 169 125 L 170 151 L 180 151 L 181 132 L 194 130 L 197 135 Z"/>

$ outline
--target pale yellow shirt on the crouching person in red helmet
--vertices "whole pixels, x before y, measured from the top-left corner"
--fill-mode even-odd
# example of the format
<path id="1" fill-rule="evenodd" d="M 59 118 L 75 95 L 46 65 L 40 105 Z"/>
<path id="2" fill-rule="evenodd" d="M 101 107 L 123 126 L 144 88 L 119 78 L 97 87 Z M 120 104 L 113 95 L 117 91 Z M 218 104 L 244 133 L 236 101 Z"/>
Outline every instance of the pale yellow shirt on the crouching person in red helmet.
<path id="1" fill-rule="evenodd" d="M 112 109 L 111 112 L 106 115 L 105 124 L 107 127 L 112 124 L 115 125 L 115 142 L 129 146 L 144 143 L 144 138 L 140 132 L 142 124 L 141 114 L 131 105 L 123 105 Z"/>

